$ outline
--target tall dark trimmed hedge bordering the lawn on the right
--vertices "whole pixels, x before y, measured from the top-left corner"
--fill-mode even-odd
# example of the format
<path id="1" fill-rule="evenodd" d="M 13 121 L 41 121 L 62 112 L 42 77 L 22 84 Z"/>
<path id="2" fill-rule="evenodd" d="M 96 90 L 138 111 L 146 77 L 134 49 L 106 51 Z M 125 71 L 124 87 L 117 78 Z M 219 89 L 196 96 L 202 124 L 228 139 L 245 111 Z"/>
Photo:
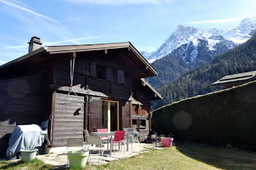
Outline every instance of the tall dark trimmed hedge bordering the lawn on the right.
<path id="1" fill-rule="evenodd" d="M 187 98 L 156 109 L 152 129 L 175 141 L 256 150 L 256 82 Z"/>

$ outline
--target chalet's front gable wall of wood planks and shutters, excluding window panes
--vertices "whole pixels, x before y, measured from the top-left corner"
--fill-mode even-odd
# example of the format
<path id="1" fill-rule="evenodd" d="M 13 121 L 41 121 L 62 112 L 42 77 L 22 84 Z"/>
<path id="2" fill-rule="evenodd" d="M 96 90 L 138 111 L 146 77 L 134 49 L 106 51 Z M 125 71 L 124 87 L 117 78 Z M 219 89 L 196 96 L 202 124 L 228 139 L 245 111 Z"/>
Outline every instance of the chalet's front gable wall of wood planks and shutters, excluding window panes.
<path id="1" fill-rule="evenodd" d="M 84 57 L 82 53 L 77 54 L 73 89 L 86 103 L 83 106 L 70 105 L 69 107 L 72 108 L 69 109 L 69 115 L 66 115 L 66 117 L 64 116 L 63 109 L 61 111 L 58 105 L 61 102 L 61 96 L 63 98 L 64 95 L 61 93 L 67 93 L 67 90 L 63 90 L 63 87 L 67 88 L 70 85 L 69 60 L 56 62 L 53 75 L 53 85 L 57 89 L 53 125 L 53 146 L 66 145 L 67 138 L 82 136 L 83 128 L 89 131 L 97 131 L 97 128 L 102 127 L 102 96 L 87 95 L 83 93 L 86 90 L 101 92 L 108 96 L 103 98 L 119 101 L 120 129 L 130 128 L 132 125 L 132 103 L 128 100 L 133 92 L 136 94 L 136 98 L 139 98 L 143 104 L 146 104 L 145 106 L 148 106 L 149 98 L 147 98 L 146 93 L 141 89 L 143 87 L 141 87 L 140 78 L 132 77 L 132 72 L 125 69 L 127 66 L 122 65 L 125 63 L 115 63 L 109 61 L 109 59 L 97 58 L 97 56 L 94 58 L 89 56 Z M 97 65 L 105 67 L 105 79 L 97 77 Z M 118 83 L 118 70 L 121 69 L 124 69 L 124 81 L 121 81 L 123 83 Z M 133 83 L 136 78 L 138 78 L 137 82 Z M 132 87 L 133 85 L 135 87 Z M 80 107 L 83 107 L 84 112 L 74 116 L 73 113 Z M 148 117 L 148 112 L 148 109 L 145 109 L 143 106 L 143 109 L 140 108 L 139 114 Z M 65 123 L 64 118 L 70 122 L 65 127 L 63 127 L 63 123 Z M 74 119 L 74 122 L 72 119 Z M 77 129 L 77 131 L 75 134 L 72 134 L 74 129 Z M 66 134 L 64 134 L 64 131 L 66 131 Z"/>

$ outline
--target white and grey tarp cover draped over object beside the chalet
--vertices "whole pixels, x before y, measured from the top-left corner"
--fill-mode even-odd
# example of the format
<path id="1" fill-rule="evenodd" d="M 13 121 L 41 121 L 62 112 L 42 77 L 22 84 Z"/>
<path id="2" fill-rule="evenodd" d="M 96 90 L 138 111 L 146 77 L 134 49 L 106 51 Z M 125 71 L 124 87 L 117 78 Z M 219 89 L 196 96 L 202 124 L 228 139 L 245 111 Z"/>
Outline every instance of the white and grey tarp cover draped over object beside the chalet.
<path id="1" fill-rule="evenodd" d="M 46 137 L 48 137 L 48 131 L 42 131 L 39 125 L 17 125 L 12 131 L 8 142 L 7 156 L 14 155 L 20 150 L 25 150 L 25 141 L 27 149 L 40 147 Z"/>

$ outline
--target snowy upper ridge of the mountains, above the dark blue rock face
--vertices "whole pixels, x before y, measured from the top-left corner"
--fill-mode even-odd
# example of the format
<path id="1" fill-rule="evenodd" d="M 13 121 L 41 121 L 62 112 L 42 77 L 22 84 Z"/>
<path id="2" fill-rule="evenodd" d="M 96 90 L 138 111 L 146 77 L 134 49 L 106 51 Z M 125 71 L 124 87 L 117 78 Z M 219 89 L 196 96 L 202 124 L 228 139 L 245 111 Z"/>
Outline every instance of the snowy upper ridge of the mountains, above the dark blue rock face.
<path id="1" fill-rule="evenodd" d="M 246 42 L 255 30 L 256 17 L 245 18 L 238 26 L 226 30 L 217 28 L 201 30 L 192 26 L 178 25 L 176 30 L 170 34 L 157 50 L 154 50 L 152 53 L 145 53 L 145 57 L 148 61 L 155 61 L 171 53 L 181 45 L 188 44 L 189 42 L 193 42 L 194 45 L 197 45 L 199 39 L 206 39 L 210 46 L 216 45 L 216 43 L 218 43 L 217 40 L 225 42 L 232 41 L 236 45 L 240 45 Z M 232 47 L 232 45 L 229 47 Z M 210 47 L 210 50 L 214 50 L 214 47 Z"/>

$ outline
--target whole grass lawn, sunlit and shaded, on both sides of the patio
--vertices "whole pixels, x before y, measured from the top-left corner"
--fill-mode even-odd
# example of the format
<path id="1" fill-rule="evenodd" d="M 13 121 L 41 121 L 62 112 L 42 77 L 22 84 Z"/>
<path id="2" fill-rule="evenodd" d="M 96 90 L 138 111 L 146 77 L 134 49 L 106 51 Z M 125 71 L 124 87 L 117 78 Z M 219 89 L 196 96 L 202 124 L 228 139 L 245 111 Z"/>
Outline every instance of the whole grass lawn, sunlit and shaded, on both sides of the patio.
<path id="1" fill-rule="evenodd" d="M 41 161 L 30 164 L 0 161 L 0 169 L 20 169 L 22 166 L 26 169 L 53 169 Z M 86 165 L 86 169 L 256 169 L 256 152 L 203 144 L 179 144 L 163 150 L 151 149 L 102 166 Z"/>

